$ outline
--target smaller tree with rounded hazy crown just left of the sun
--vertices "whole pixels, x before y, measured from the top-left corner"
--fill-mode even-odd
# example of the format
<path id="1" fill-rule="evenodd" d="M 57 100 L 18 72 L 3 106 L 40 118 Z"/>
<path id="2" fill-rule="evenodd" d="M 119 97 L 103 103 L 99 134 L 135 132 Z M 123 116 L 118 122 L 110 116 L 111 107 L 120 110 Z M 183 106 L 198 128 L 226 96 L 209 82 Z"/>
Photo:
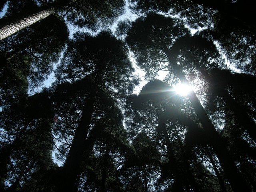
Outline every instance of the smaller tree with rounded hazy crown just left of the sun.
<path id="1" fill-rule="evenodd" d="M 141 116 L 146 116 L 147 113 L 155 116 L 155 119 L 152 119 L 150 121 L 155 121 L 156 123 L 156 127 L 153 127 L 153 129 L 156 129 L 158 132 L 164 132 L 164 143 L 167 146 L 168 159 L 170 161 L 171 172 L 174 177 L 174 190 L 182 191 L 182 188 L 184 186 L 184 180 L 182 180 L 180 170 L 178 170 L 179 168 L 177 166 L 177 160 L 174 157 L 174 151 L 166 129 L 166 119 L 162 114 L 162 101 L 164 100 L 164 98 L 168 98 L 169 100 L 174 99 L 171 96 L 170 87 L 168 87 L 166 84 L 161 83 L 159 80 L 154 80 L 152 82 L 149 82 L 146 86 L 144 86 L 144 88 L 142 88 L 142 91 L 140 92 L 138 98 L 134 100 L 134 106 L 138 107 L 137 110 L 143 110 Z M 149 114 L 148 116 L 152 118 L 152 115 L 150 116 Z M 146 116 L 146 118 L 149 117 Z M 138 120 L 138 122 L 142 121 L 142 119 L 143 118 L 140 118 L 140 116 L 137 116 L 137 119 L 136 116 L 134 116 L 134 120 Z M 148 122 L 149 120 L 144 119 L 143 122 L 144 121 Z M 151 156 L 153 156 L 153 154 Z M 150 158 L 148 158 L 148 160 L 150 160 Z"/>

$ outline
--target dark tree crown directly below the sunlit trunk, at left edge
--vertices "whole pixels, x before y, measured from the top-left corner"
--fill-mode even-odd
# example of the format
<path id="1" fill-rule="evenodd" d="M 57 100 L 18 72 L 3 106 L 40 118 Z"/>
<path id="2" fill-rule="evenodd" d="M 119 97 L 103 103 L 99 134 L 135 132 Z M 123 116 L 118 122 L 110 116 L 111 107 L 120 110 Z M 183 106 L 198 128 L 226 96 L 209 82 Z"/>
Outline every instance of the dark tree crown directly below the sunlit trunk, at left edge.
<path id="1" fill-rule="evenodd" d="M 12 1 L 6 14 L 18 12 L 29 3 L 33 9 L 32 2 L 15 4 Z M 64 20 L 58 16 L 50 16 L 2 40 L 0 104 L 8 105 L 22 92 L 41 86 L 53 71 L 53 64 L 58 62 L 67 38 L 68 29 Z"/>

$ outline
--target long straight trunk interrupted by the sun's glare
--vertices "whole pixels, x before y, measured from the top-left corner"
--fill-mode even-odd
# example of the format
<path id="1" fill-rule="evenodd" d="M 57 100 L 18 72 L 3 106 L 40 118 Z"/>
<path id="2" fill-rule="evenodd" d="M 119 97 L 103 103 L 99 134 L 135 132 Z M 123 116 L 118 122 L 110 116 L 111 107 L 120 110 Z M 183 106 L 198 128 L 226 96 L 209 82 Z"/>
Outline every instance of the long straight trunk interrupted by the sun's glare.
<path id="1" fill-rule="evenodd" d="M 174 68 L 174 73 L 178 76 L 183 84 L 188 84 L 185 75 L 182 73 L 180 67 L 174 60 L 172 54 L 170 53 L 170 50 L 164 45 L 163 48 L 164 52 L 168 57 L 170 65 Z M 242 177 L 242 174 L 239 172 L 222 138 L 219 136 L 217 130 L 214 128 L 210 118 L 208 117 L 206 111 L 204 110 L 194 91 L 190 91 L 190 93 L 188 94 L 188 98 L 198 116 L 200 123 L 202 124 L 204 131 L 206 132 L 210 144 L 213 146 L 213 149 L 220 161 L 224 173 L 226 174 L 228 181 L 230 182 L 232 190 L 234 192 L 249 192 L 250 190 L 244 178 Z"/>

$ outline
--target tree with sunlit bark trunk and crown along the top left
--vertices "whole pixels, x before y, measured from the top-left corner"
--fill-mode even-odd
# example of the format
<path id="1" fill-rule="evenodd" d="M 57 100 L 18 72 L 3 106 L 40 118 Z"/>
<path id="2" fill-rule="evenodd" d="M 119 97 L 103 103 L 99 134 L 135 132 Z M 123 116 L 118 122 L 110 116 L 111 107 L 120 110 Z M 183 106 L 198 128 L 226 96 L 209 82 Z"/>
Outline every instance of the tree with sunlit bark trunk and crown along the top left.
<path id="1" fill-rule="evenodd" d="M 41 1 L 40 7 L 27 9 L 18 14 L 0 19 L 0 40 L 34 24 L 55 12 L 78 27 L 96 31 L 100 26 L 112 24 L 124 11 L 125 2 L 116 0 L 84 1 L 56 0 Z"/>

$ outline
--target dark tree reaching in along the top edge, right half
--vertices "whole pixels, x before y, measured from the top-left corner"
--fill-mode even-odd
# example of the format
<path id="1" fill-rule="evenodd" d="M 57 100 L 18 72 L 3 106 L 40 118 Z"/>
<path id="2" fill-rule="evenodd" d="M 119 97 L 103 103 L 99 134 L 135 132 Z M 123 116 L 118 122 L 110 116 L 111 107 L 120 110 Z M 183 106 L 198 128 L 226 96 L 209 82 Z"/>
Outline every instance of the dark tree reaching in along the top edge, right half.
<path id="1" fill-rule="evenodd" d="M 171 0 L 131 0 L 132 9 L 136 12 L 162 12 L 164 14 L 178 14 L 178 16 L 186 18 L 191 26 L 204 26 L 204 24 L 214 21 L 216 12 L 223 15 L 226 20 L 234 20 L 236 23 L 242 23 L 245 26 L 255 29 L 256 23 L 251 18 L 255 17 L 252 7 L 255 2 L 250 0 L 238 1 L 171 1 Z M 240 15 L 241 13 L 242 15 Z"/>

